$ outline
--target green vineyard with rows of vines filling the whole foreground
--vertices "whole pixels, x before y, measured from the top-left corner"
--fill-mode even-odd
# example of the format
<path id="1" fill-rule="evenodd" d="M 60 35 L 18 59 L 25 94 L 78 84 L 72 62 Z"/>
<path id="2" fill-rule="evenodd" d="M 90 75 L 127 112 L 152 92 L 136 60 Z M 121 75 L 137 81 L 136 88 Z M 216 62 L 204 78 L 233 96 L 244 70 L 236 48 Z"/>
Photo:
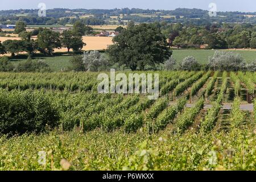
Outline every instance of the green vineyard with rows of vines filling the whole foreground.
<path id="1" fill-rule="evenodd" d="M 158 100 L 99 94 L 98 73 L 0 73 L 0 170 L 256 169 L 256 72 L 146 73 Z"/>

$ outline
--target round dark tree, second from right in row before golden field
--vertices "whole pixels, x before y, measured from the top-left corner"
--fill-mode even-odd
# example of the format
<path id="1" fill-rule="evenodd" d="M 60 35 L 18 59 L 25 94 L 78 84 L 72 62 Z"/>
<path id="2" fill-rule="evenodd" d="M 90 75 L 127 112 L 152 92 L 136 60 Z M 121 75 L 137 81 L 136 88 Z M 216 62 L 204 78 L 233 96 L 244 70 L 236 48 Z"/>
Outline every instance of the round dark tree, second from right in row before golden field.
<path id="1" fill-rule="evenodd" d="M 37 40 L 39 51 L 44 54 L 51 55 L 55 48 L 61 47 L 60 34 L 48 29 L 40 31 Z"/>

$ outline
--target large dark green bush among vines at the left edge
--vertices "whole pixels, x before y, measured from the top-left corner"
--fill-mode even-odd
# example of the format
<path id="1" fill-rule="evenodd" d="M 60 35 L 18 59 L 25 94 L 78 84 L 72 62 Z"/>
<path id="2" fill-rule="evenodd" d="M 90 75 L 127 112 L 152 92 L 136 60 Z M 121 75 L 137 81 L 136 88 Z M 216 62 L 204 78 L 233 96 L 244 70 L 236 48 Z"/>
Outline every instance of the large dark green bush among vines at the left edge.
<path id="1" fill-rule="evenodd" d="M 0 90 L 0 134 L 40 133 L 59 125 L 59 113 L 42 92 Z"/>

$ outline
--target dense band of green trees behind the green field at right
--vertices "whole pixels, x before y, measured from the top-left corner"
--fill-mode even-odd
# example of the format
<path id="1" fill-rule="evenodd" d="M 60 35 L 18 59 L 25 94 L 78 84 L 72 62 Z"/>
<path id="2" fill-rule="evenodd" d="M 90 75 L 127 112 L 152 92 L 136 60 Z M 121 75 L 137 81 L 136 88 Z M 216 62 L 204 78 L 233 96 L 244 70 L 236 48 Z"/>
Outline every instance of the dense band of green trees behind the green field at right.
<path id="1" fill-rule="evenodd" d="M 214 49 L 256 48 L 256 26 L 253 24 L 185 26 L 181 23 L 162 23 L 162 31 L 168 36 L 169 46 L 177 48 L 196 48 L 203 44 Z"/>

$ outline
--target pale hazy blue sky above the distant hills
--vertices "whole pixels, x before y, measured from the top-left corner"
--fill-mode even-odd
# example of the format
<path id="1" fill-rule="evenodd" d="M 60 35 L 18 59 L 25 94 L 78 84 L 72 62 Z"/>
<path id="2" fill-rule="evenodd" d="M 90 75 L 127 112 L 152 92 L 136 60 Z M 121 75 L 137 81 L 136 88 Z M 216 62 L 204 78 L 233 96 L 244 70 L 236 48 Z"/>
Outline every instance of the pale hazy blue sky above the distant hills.
<path id="1" fill-rule="evenodd" d="M 39 3 L 47 9 L 64 7 L 69 9 L 113 9 L 115 7 L 137 7 L 141 9 L 173 10 L 178 7 L 209 10 L 209 3 L 216 3 L 217 11 L 256 11 L 256 0 L 0 0 L 0 10 L 38 9 Z"/>

